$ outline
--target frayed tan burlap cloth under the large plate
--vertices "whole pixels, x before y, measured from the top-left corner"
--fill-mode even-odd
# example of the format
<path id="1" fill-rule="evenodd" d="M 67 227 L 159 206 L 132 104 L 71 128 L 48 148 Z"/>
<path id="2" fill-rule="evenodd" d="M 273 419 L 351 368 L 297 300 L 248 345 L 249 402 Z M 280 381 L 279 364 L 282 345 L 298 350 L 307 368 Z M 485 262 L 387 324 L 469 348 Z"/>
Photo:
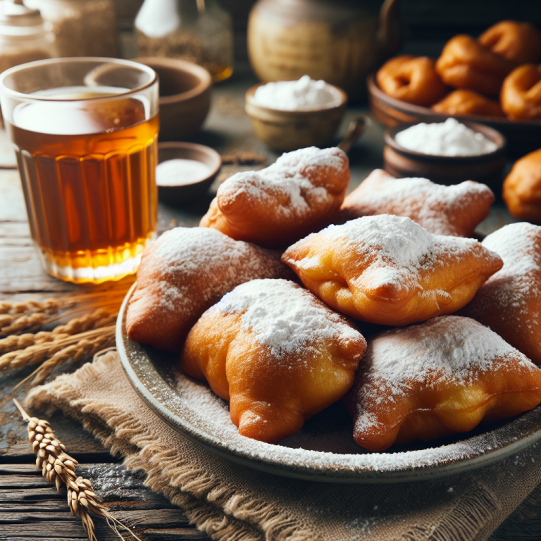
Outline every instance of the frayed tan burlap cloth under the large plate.
<path id="1" fill-rule="evenodd" d="M 418 483 L 316 483 L 244 468 L 163 423 L 133 390 L 116 352 L 38 387 L 27 405 L 79 419 L 216 540 L 487 540 L 541 481 L 541 444 Z"/>

